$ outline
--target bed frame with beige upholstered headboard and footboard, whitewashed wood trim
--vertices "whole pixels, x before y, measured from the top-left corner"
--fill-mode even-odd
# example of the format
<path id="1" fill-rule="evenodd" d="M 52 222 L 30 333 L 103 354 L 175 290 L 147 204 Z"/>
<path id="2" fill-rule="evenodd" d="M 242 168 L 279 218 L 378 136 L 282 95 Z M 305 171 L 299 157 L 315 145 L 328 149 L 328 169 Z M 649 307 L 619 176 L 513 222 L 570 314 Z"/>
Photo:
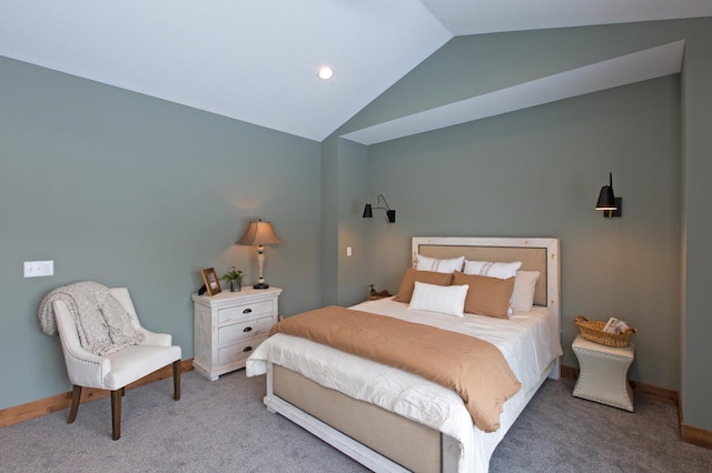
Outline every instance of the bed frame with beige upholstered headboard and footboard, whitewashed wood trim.
<path id="1" fill-rule="evenodd" d="M 557 239 L 414 238 L 414 259 L 416 254 L 522 261 L 522 270 L 541 273 L 534 303 L 547 305 L 560 321 Z M 526 393 L 526 403 L 547 376 L 558 379 L 558 371 L 556 359 L 551 370 L 542 373 L 537 385 Z M 457 471 L 458 445 L 447 435 L 379 406 L 323 388 L 271 363 L 267 369 L 265 404 L 269 411 L 278 412 L 373 471 Z M 517 416 L 520 412 L 516 412 Z"/>

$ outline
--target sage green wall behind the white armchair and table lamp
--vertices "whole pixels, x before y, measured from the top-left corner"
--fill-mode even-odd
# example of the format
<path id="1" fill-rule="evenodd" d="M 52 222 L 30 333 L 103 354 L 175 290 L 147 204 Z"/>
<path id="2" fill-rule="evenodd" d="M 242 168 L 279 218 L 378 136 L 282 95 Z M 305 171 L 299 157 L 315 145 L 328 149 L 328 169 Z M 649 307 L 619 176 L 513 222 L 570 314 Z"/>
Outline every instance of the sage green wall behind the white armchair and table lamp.
<path id="1" fill-rule="evenodd" d="M 0 58 L 0 409 L 67 392 L 59 340 L 37 309 L 80 280 L 125 285 L 146 326 L 192 358 L 199 270 L 235 264 L 251 219 L 280 312 L 319 303 L 319 143 Z M 51 278 L 22 262 L 53 260 Z"/>

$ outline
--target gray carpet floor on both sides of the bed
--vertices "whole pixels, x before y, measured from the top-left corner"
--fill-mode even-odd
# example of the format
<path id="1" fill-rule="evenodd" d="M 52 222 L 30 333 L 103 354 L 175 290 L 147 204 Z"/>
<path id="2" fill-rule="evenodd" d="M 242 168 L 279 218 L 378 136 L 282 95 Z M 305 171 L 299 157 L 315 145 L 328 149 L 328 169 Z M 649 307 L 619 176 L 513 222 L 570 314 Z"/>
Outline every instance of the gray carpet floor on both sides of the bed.
<path id="1" fill-rule="evenodd" d="M 672 405 L 636 399 L 636 412 L 580 400 L 547 381 L 495 451 L 491 472 L 712 472 L 712 451 L 679 439 Z M 261 403 L 265 378 L 209 382 L 185 373 L 127 391 L 121 439 L 109 400 L 0 429 L 1 472 L 365 472 Z"/>

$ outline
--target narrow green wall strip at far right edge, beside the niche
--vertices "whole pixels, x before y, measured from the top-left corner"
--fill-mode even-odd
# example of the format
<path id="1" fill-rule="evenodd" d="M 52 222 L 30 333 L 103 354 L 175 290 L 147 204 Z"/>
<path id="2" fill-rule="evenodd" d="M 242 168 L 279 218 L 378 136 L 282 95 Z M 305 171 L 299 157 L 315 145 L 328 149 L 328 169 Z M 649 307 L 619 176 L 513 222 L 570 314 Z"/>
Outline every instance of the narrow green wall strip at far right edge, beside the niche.
<path id="1" fill-rule="evenodd" d="M 712 20 L 685 30 L 683 120 L 683 338 L 682 414 L 712 431 Z M 708 433 L 709 433 L 708 432 Z"/>

